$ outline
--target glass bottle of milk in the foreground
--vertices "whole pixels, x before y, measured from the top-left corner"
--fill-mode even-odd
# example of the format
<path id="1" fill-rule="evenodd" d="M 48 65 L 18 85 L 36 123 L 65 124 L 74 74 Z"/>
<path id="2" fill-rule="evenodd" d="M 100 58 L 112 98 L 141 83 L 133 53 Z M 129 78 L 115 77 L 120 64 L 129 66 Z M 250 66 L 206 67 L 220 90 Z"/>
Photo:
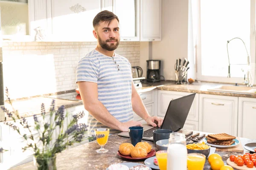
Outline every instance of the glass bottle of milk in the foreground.
<path id="1" fill-rule="evenodd" d="M 167 149 L 167 170 L 187 170 L 187 149 L 184 133 L 171 133 Z"/>

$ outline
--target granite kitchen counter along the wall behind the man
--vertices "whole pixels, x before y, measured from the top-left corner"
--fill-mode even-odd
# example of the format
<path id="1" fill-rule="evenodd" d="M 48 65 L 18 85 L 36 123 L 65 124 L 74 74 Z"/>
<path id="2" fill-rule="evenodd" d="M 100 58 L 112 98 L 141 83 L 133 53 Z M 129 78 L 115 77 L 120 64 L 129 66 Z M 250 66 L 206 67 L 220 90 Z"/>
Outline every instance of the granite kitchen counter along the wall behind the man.
<path id="1" fill-rule="evenodd" d="M 256 98 L 256 94 L 245 94 L 245 93 L 234 93 L 234 92 L 221 92 L 221 91 L 208 91 L 209 88 L 215 88 L 219 85 L 231 85 L 223 83 L 212 83 L 212 82 L 194 82 L 192 84 L 177 85 L 172 80 L 161 80 L 160 82 L 142 83 L 142 88 L 137 88 L 138 93 L 145 93 L 154 89 L 166 90 L 166 91 L 180 91 L 198 94 L 214 94 L 223 96 L 239 96 L 239 97 L 253 97 Z M 58 94 L 69 94 L 74 93 L 75 90 L 59 92 Z M 52 95 L 52 94 L 51 94 Z M 41 114 L 41 104 L 45 104 L 46 111 L 49 111 L 50 104 L 53 98 L 50 98 L 50 94 L 38 97 L 31 97 L 26 99 L 19 99 L 13 101 L 13 106 L 19 111 L 19 115 L 23 117 L 33 116 L 34 114 Z M 64 105 L 65 108 L 71 108 L 78 105 L 83 105 L 83 102 L 72 100 L 72 99 L 58 99 L 55 98 L 55 106 L 59 107 Z M 11 105 L 5 102 L 7 109 L 12 110 Z M 6 116 L 6 120 L 11 120 Z"/>

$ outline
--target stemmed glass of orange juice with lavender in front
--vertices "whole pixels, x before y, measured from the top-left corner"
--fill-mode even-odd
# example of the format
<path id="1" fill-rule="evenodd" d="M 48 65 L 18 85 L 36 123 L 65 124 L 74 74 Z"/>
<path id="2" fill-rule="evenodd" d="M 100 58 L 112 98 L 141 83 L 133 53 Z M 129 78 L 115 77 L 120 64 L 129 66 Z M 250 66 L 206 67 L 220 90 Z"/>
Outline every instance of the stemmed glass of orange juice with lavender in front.
<path id="1" fill-rule="evenodd" d="M 104 145 L 108 142 L 109 129 L 98 128 L 98 129 L 95 129 L 94 132 L 96 135 L 96 140 L 97 140 L 98 144 L 100 145 L 100 149 L 97 149 L 96 152 L 98 152 L 98 153 L 108 152 L 108 150 L 104 148 Z M 104 135 L 104 137 L 98 137 L 99 135 Z"/>

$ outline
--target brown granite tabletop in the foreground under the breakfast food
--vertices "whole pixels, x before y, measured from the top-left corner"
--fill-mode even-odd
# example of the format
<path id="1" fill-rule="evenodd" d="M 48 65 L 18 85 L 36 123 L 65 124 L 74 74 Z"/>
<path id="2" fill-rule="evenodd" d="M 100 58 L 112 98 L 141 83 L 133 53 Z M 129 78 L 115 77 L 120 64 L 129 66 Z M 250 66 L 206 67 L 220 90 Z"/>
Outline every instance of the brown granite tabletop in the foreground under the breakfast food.
<path id="1" fill-rule="evenodd" d="M 189 130 L 180 130 L 181 133 L 187 133 Z M 198 131 L 194 131 L 196 133 Z M 202 133 L 202 132 L 201 132 Z M 256 140 L 240 138 L 241 143 L 244 145 L 250 142 L 256 142 Z M 58 170 L 105 170 L 111 164 L 129 162 L 130 160 L 123 159 L 116 153 L 119 150 L 119 145 L 122 143 L 131 143 L 129 138 L 118 136 L 117 134 L 111 135 L 108 138 L 108 143 L 104 146 L 109 151 L 107 153 L 96 153 L 96 149 L 99 149 L 99 144 L 96 141 L 81 144 L 76 147 L 72 147 L 68 150 L 64 150 L 57 155 L 57 169 Z M 145 142 L 145 141 L 144 141 Z M 157 150 L 156 145 L 152 141 L 146 141 L 152 145 L 152 149 Z M 248 152 L 244 150 L 244 153 Z M 225 164 L 230 155 L 239 155 L 241 153 L 236 152 L 215 152 L 221 155 Z M 133 161 L 144 164 L 143 161 Z M 33 162 L 30 161 L 26 164 L 13 167 L 10 170 L 33 170 Z M 206 160 L 204 170 L 211 170 L 208 161 Z"/>

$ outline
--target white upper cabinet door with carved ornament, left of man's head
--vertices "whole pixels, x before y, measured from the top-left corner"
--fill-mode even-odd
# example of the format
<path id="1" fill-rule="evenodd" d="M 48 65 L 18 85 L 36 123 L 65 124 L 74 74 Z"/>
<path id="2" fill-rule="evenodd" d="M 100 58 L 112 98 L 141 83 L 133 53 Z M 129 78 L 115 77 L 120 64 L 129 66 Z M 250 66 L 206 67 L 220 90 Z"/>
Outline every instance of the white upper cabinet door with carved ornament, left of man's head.
<path id="1" fill-rule="evenodd" d="M 93 18 L 101 11 L 101 0 L 51 0 L 52 39 L 96 41 Z"/>

